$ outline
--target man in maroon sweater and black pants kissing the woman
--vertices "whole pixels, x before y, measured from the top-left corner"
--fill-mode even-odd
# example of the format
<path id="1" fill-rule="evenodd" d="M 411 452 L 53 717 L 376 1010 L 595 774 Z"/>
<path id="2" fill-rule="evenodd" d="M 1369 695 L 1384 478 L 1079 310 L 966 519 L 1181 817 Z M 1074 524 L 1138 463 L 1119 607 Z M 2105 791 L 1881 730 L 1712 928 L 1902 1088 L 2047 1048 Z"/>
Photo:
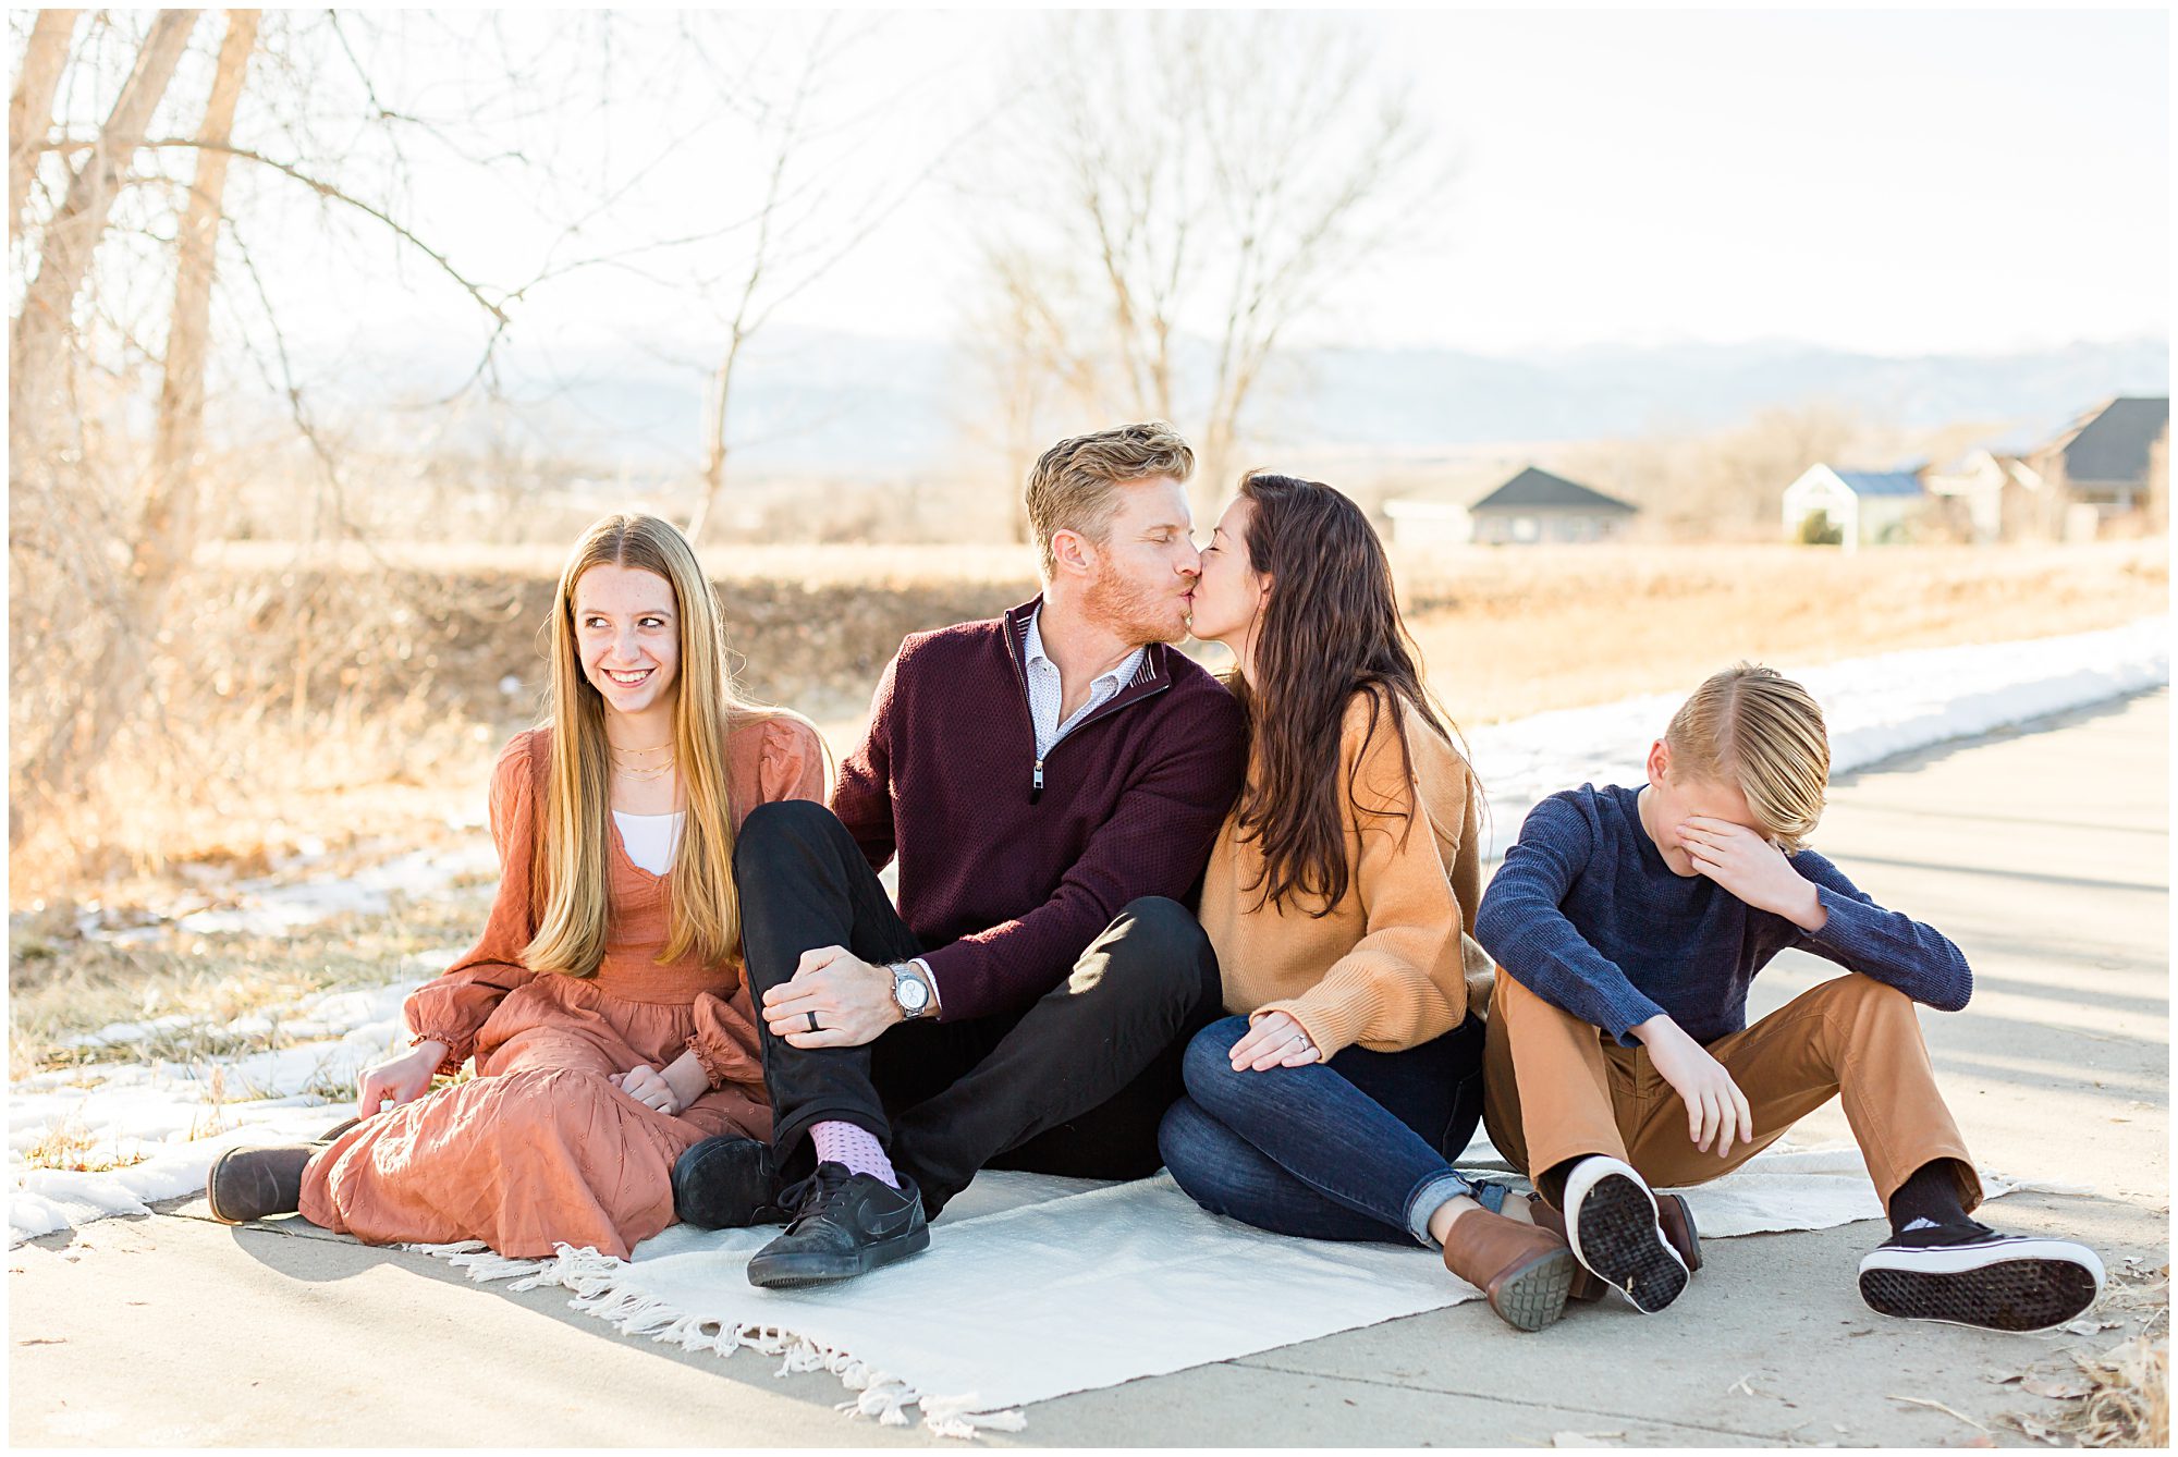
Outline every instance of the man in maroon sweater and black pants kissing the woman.
<path id="1" fill-rule="evenodd" d="M 1157 1172 L 1180 1050 L 1222 1011 L 1180 902 L 1244 769 L 1233 697 L 1170 647 L 1200 571 L 1191 468 L 1161 423 L 1045 451 L 1043 595 L 902 642 L 832 808 L 764 804 L 741 828 L 773 1141 L 697 1143 L 675 1204 L 793 1220 L 751 1283 L 915 1254 L 991 1163 Z M 878 882 L 895 856 L 897 913 Z"/>

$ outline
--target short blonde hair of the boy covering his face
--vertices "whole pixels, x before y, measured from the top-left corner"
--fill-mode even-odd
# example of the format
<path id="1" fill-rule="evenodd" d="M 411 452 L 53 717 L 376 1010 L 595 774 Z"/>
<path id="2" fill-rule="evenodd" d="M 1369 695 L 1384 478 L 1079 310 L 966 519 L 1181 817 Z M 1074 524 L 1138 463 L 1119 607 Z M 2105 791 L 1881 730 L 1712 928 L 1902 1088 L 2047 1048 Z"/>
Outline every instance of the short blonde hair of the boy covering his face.
<path id="1" fill-rule="evenodd" d="M 1830 734 L 1806 688 L 1777 669 L 1740 662 L 1712 675 L 1664 730 L 1677 775 L 1738 784 L 1782 852 L 1797 854 L 1823 819 Z"/>

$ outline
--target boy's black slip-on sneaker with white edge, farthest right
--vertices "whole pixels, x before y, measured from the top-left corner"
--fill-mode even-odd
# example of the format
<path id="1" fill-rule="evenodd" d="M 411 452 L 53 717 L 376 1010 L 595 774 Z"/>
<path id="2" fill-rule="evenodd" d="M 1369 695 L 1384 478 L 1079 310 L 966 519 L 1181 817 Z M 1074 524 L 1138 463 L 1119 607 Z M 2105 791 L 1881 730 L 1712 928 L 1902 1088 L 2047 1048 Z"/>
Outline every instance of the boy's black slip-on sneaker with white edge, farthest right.
<path id="1" fill-rule="evenodd" d="M 2084 1244 L 1999 1235 L 1973 1222 L 1917 1224 L 1860 1261 L 1869 1309 L 1984 1331 L 2047 1331 L 2102 1294 L 2102 1259 Z"/>

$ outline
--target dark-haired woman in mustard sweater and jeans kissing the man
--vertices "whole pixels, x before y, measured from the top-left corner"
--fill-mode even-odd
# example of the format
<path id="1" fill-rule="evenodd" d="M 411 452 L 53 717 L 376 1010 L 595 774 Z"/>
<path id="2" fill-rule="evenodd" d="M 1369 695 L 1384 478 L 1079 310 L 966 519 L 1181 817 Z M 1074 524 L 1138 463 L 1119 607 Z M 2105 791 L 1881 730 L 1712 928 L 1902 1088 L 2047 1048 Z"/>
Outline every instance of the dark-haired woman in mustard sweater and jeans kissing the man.
<path id="1" fill-rule="evenodd" d="M 1442 1246 L 1509 1324 L 1549 1324 L 1566 1244 L 1451 1163 L 1481 1115 L 1479 786 L 1383 542 L 1337 490 L 1255 473 L 1202 551 L 1191 627 L 1233 651 L 1248 782 L 1202 886 L 1233 1015 L 1187 1048 L 1165 1165 L 1281 1235 Z"/>

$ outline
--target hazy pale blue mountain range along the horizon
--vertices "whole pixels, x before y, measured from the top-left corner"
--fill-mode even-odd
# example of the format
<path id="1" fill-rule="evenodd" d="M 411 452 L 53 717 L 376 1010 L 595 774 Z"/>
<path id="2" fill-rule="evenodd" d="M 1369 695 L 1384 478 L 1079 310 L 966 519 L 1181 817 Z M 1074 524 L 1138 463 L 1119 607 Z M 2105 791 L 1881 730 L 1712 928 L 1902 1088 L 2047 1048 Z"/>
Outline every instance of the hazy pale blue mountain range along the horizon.
<path id="1" fill-rule="evenodd" d="M 381 388 L 442 392 L 425 357 L 375 362 Z M 473 362 L 462 362 L 462 368 Z M 510 403 L 490 412 L 534 444 L 634 473 L 699 455 L 703 377 L 649 355 L 584 355 L 547 375 L 514 351 Z M 2056 429 L 2110 394 L 2165 394 L 2161 338 L 2006 355 L 1853 355 L 1790 342 L 1581 348 L 1485 357 L 1455 351 L 1318 348 L 1289 355 L 1257 412 L 1276 446 L 1416 449 L 1496 440 L 1557 442 L 1708 431 L 1764 407 L 1836 403 L 1877 425 L 1962 420 Z M 943 468 L 980 405 L 963 353 L 788 331 L 758 340 L 736 388 L 741 468 L 897 475 Z M 449 442 L 486 431 L 486 412 Z M 481 440 L 479 440 L 481 444 Z"/>

